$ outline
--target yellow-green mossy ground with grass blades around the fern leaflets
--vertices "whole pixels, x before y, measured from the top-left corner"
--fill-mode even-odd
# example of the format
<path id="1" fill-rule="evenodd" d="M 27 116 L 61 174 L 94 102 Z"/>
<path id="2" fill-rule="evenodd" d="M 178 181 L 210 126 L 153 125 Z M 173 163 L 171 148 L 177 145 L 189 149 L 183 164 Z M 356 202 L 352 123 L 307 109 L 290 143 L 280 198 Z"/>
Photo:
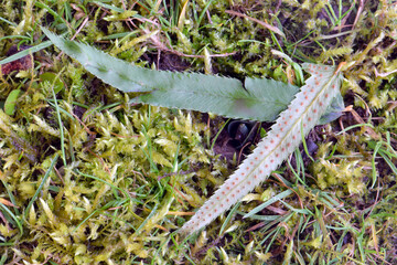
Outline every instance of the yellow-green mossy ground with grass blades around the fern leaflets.
<path id="1" fill-rule="evenodd" d="M 0 24 L 2 59 L 45 44 L 43 25 L 160 70 L 298 83 L 271 50 L 345 61 L 352 105 L 311 134 L 313 162 L 297 151 L 184 242 L 173 232 L 235 166 L 212 148 L 224 121 L 131 106 L 53 46 L 28 52 L 0 81 L 1 264 L 397 263 L 393 1 L 8 0 Z"/>

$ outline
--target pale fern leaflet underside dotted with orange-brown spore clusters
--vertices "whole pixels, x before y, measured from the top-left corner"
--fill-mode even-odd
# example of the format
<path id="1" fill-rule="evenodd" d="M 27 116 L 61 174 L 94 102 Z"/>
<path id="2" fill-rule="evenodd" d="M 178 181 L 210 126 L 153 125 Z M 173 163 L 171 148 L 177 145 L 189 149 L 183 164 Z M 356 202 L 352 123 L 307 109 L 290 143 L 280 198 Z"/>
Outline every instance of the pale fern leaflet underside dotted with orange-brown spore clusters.
<path id="1" fill-rule="evenodd" d="M 288 109 L 230 178 L 213 194 L 194 216 L 180 230 L 192 234 L 229 209 L 260 182 L 300 145 L 325 113 L 332 98 L 340 93 L 343 80 L 339 68 L 326 65 L 303 64 L 312 74 L 296 95 Z"/>

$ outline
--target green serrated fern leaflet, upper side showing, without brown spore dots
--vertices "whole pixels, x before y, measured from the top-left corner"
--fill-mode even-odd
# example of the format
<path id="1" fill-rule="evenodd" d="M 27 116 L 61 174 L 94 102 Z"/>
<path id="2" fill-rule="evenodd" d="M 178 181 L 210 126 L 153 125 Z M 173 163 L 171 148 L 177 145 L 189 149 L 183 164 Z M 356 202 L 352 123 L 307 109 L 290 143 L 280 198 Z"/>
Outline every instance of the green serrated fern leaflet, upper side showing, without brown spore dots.
<path id="1" fill-rule="evenodd" d="M 272 121 L 299 89 L 272 80 L 247 78 L 244 87 L 236 78 L 143 68 L 42 30 L 58 49 L 105 83 L 122 92 L 149 92 L 131 103 Z"/>

